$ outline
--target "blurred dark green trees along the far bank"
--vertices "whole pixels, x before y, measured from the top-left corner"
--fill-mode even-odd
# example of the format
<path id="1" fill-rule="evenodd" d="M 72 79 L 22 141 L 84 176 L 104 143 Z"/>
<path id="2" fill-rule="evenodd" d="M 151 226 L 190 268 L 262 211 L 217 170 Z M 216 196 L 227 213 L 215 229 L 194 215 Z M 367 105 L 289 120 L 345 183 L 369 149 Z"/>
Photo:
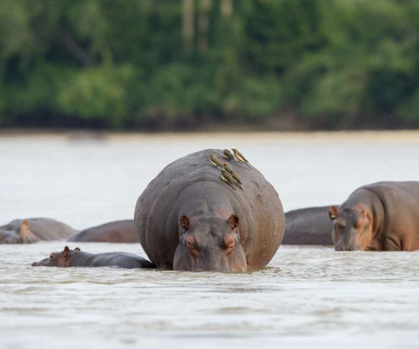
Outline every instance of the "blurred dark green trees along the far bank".
<path id="1" fill-rule="evenodd" d="M 1 0 L 0 125 L 419 126 L 418 0 Z"/>

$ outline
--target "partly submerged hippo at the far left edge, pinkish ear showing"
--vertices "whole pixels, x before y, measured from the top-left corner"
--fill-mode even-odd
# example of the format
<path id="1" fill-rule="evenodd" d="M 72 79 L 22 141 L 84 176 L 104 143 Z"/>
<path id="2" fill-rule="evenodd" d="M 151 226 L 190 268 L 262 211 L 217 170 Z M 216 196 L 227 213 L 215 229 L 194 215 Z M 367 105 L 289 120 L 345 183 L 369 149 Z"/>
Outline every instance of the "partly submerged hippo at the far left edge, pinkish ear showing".
<path id="1" fill-rule="evenodd" d="M 78 233 L 78 230 L 71 228 L 69 225 L 55 221 L 51 218 L 27 218 L 27 219 L 15 219 L 10 223 L 0 227 L 1 230 L 7 232 L 15 232 L 16 235 L 21 235 L 21 226 L 24 221 L 27 221 L 30 227 L 31 237 L 27 237 L 26 242 L 24 239 L 16 238 L 13 235 L 13 244 L 24 244 L 30 242 L 38 242 L 40 240 L 52 241 L 59 239 L 67 239 L 72 235 Z M 29 235 L 29 233 L 27 234 Z M 0 242 L 1 244 L 1 242 Z"/>

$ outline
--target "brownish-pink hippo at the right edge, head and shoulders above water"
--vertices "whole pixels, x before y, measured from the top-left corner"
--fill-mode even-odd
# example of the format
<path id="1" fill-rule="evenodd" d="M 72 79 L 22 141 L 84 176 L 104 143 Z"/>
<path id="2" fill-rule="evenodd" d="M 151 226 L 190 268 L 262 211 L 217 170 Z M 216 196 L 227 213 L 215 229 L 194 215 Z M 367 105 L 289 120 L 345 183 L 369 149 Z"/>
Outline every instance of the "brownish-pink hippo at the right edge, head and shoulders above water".
<path id="1" fill-rule="evenodd" d="M 336 251 L 419 249 L 419 181 L 382 181 L 331 206 Z"/>

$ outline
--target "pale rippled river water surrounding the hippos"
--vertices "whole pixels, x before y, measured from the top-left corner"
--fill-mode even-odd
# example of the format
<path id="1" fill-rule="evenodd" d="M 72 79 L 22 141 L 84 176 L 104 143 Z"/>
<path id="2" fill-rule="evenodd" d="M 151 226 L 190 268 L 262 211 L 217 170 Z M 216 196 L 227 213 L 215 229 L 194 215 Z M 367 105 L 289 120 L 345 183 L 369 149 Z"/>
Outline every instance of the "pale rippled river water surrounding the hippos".
<path id="1" fill-rule="evenodd" d="M 132 218 L 165 165 L 210 147 L 238 147 L 286 210 L 419 178 L 419 133 L 3 135 L 0 224 L 47 216 L 81 229 Z M 0 245 L 0 348 L 419 346 L 419 251 L 281 246 L 265 269 L 244 274 L 30 266 L 64 244 Z M 77 246 L 145 256 L 139 244 Z"/>

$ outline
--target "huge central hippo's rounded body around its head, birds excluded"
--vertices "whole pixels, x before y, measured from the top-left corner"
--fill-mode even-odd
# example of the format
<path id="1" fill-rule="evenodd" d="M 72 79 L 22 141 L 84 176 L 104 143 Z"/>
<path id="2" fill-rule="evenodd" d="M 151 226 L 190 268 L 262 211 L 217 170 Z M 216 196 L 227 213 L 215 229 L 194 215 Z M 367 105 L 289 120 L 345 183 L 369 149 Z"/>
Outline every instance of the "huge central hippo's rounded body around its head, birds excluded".
<path id="1" fill-rule="evenodd" d="M 279 196 L 256 168 L 232 161 L 230 165 L 242 179 L 244 188 L 234 190 L 221 181 L 219 168 L 210 164 L 211 153 L 223 159 L 219 149 L 189 154 L 166 166 L 145 188 L 138 198 L 134 217 L 142 248 L 156 265 L 172 267 L 179 244 L 177 219 L 182 202 L 178 199 L 188 192 L 190 200 L 198 196 L 203 202 L 219 205 L 219 211 L 233 207 L 240 218 L 240 241 L 247 264 L 264 267 L 284 236 L 285 218 Z M 216 202 L 226 195 L 229 202 L 226 199 Z"/>

